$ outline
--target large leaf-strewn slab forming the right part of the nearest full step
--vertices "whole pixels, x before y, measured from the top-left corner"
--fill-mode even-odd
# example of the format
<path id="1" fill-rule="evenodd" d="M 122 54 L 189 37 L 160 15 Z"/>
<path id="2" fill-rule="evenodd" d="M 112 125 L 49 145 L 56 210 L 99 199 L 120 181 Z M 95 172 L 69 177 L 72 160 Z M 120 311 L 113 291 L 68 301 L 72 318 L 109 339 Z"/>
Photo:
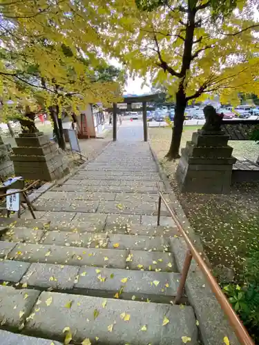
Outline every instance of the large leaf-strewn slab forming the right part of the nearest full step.
<path id="1" fill-rule="evenodd" d="M 12 308 L 12 301 L 9 304 Z M 42 292 L 24 331 L 64 341 L 65 327 L 69 327 L 74 344 L 86 338 L 95 343 L 98 338 L 98 344 L 182 345 L 182 337 L 188 337 L 190 345 L 198 344 L 198 327 L 190 306 Z"/>

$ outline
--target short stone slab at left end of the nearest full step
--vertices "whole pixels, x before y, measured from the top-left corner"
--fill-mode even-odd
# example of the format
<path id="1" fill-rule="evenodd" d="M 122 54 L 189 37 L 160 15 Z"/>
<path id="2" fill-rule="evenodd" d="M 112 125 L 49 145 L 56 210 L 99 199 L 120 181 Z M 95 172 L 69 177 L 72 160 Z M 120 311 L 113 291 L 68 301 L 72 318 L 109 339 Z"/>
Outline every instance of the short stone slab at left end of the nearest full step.
<path id="1" fill-rule="evenodd" d="M 29 316 L 38 296 L 37 290 L 15 290 L 12 286 L 0 286 L 1 325 L 19 329 Z"/>

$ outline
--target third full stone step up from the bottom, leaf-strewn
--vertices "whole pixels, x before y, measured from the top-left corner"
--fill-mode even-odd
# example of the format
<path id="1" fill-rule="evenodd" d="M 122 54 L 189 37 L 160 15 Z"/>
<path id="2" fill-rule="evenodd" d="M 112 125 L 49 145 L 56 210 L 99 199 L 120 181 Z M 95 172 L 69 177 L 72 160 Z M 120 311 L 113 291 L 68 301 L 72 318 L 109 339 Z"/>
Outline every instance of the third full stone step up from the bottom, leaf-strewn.
<path id="1" fill-rule="evenodd" d="M 30 263 L 48 263 L 70 266 L 95 266 L 177 272 L 175 259 L 170 252 L 84 248 L 49 244 L 23 244 L 0 242 L 12 245 L 2 255 L 7 259 Z M 167 246 L 164 248 L 168 248 Z"/>

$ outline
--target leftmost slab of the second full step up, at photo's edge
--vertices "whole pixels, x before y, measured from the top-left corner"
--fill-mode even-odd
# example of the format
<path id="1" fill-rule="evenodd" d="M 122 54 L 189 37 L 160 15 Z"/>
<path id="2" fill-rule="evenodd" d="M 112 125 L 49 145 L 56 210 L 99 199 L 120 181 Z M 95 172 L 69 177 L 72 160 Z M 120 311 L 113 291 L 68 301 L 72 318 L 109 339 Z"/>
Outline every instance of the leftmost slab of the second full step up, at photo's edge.
<path id="1" fill-rule="evenodd" d="M 0 280 L 17 283 L 26 273 L 30 263 L 15 260 L 4 260 L 0 262 Z M 1 343 L 0 343 L 1 344 Z"/>

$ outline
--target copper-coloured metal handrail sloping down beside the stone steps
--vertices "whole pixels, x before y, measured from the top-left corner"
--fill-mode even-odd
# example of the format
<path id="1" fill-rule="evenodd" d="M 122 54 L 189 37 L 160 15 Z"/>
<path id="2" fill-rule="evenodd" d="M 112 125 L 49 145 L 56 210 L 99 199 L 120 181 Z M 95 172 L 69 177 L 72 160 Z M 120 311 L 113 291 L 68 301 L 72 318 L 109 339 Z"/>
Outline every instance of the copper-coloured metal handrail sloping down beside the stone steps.
<path id="1" fill-rule="evenodd" d="M 231 307 L 231 304 L 227 300 L 227 297 L 225 297 L 224 293 L 222 293 L 222 290 L 220 286 L 218 285 L 218 282 L 215 280 L 213 275 L 211 274 L 211 271 L 209 270 L 209 267 L 204 262 L 200 254 L 198 253 L 198 250 L 196 250 L 195 246 L 193 245 L 193 242 L 191 242 L 191 239 L 189 239 L 189 236 L 186 234 L 184 229 L 182 228 L 180 222 L 178 221 L 178 218 L 176 217 L 174 211 L 171 209 L 169 204 L 167 203 L 166 199 L 164 199 L 159 184 L 157 184 L 158 188 L 158 195 L 159 195 L 159 203 L 161 201 L 164 202 L 164 205 L 166 206 L 167 210 L 171 214 L 171 217 L 173 218 L 173 221 L 175 221 L 175 224 L 178 228 L 178 231 L 181 233 L 182 237 L 184 238 L 187 246 L 189 247 L 189 250 L 191 252 L 191 255 L 193 256 L 193 259 L 195 259 L 195 262 L 197 262 L 198 266 L 200 267 L 200 270 L 202 270 L 202 273 L 204 274 L 205 278 L 207 279 L 207 282 L 211 286 L 211 290 L 213 290 L 213 293 L 215 293 L 216 299 L 218 299 L 218 302 L 220 303 L 220 306 L 222 307 L 224 313 L 227 315 L 229 322 L 231 326 L 233 327 L 233 330 L 236 333 L 236 336 L 238 337 L 238 340 L 240 341 L 240 344 L 242 345 L 255 345 L 253 342 L 253 339 L 251 339 L 249 333 L 247 332 L 246 328 L 243 326 L 242 322 L 240 321 L 238 315 L 236 315 L 235 311 L 233 311 L 233 308 Z M 161 209 L 161 204 L 158 206 L 159 210 Z M 160 219 L 160 214 L 157 215 L 157 221 Z M 188 260 L 187 260 L 188 262 Z M 184 273 L 186 275 L 186 273 Z M 182 276 L 182 278 L 184 278 Z M 185 277 L 186 279 L 186 277 Z M 185 280 L 183 279 L 183 282 L 185 283 Z M 184 284 L 182 284 L 184 286 Z"/>

